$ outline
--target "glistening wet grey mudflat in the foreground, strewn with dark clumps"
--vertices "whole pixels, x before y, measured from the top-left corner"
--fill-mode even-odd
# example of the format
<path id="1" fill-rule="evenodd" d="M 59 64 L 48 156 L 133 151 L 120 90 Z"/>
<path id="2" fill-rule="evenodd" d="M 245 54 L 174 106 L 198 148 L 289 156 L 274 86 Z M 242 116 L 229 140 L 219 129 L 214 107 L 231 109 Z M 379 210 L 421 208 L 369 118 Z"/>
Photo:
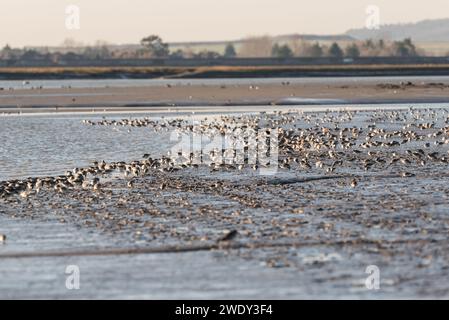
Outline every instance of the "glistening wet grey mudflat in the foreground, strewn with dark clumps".
<path id="1" fill-rule="evenodd" d="M 141 168 L 134 177 L 92 165 L 97 190 L 68 176 L 64 190 L 55 176 L 38 192 L 3 183 L 0 296 L 447 298 L 447 106 L 291 109 L 201 124 L 85 115 L 80 128 L 111 138 L 116 127 L 207 133 L 263 119 L 284 128 L 279 167 L 262 175 L 159 155 L 128 162 Z M 80 267 L 79 291 L 65 288 L 68 264 Z M 381 271 L 380 290 L 365 287 L 369 265 Z"/>

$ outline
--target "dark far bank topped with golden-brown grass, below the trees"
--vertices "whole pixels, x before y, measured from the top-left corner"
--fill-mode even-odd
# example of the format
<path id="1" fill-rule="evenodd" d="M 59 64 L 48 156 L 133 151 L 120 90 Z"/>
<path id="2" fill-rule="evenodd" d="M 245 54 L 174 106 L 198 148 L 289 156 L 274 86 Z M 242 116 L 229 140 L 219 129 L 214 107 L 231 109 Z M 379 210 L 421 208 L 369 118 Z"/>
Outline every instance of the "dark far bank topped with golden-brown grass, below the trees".
<path id="1" fill-rule="evenodd" d="M 200 67 L 0 67 L 0 80 L 218 79 L 281 77 L 446 76 L 448 64 L 200 66 Z"/>

